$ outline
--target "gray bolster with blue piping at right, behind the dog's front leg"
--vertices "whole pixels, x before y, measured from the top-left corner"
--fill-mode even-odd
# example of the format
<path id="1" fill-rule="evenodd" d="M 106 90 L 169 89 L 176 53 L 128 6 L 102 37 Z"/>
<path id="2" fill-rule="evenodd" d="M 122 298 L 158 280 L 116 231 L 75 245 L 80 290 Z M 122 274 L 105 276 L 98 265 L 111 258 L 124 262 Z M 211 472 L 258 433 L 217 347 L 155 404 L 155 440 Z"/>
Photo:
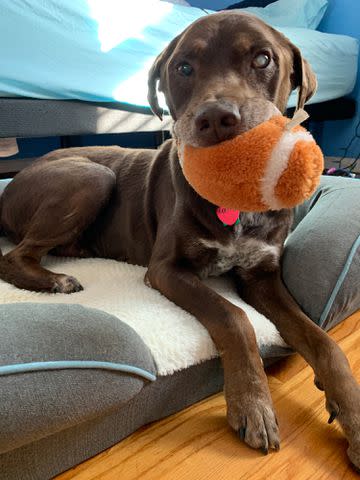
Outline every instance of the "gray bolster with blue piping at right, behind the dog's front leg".
<path id="1" fill-rule="evenodd" d="M 303 310 L 329 329 L 360 308 L 360 181 L 322 177 L 295 209 L 282 274 Z"/>

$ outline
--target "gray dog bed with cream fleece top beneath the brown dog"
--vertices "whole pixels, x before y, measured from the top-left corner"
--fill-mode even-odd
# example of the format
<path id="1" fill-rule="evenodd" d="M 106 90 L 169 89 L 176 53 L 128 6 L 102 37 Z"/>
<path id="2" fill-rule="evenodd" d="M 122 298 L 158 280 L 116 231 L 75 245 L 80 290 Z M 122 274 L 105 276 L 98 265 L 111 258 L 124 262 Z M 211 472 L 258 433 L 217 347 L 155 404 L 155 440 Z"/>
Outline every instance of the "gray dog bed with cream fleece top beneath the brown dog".
<path id="1" fill-rule="evenodd" d="M 286 244 L 284 280 L 324 328 L 360 307 L 359 201 L 357 180 L 324 178 L 297 209 Z M 2 480 L 51 478 L 222 388 L 208 333 L 144 285 L 144 268 L 57 257 L 43 264 L 85 289 L 50 295 L 0 281 Z M 209 285 L 248 313 L 265 364 L 291 352 L 226 279 Z"/>

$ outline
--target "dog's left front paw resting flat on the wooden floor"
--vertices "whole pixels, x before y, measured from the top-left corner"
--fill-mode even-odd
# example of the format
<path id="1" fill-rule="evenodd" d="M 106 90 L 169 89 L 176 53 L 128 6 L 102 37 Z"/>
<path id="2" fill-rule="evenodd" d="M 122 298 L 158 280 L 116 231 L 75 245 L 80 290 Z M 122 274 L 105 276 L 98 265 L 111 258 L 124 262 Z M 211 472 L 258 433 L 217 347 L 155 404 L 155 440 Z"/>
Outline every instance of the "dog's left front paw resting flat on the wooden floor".
<path id="1" fill-rule="evenodd" d="M 265 454 L 279 450 L 279 427 L 271 398 L 266 393 L 242 393 L 227 397 L 227 418 L 230 426 L 252 448 Z"/>

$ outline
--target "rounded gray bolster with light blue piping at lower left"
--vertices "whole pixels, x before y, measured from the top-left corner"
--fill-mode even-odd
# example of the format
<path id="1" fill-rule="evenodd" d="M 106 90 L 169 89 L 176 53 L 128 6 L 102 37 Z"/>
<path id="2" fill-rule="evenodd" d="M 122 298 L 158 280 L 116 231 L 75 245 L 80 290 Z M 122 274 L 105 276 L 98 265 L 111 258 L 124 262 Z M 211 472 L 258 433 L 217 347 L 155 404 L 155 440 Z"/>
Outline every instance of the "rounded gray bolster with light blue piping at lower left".
<path id="1" fill-rule="evenodd" d="M 79 305 L 0 305 L 0 338 L 1 366 L 91 360 L 156 372 L 149 349 L 132 328 Z M 147 383 L 139 375 L 103 369 L 0 375 L 0 452 L 105 415 Z"/>

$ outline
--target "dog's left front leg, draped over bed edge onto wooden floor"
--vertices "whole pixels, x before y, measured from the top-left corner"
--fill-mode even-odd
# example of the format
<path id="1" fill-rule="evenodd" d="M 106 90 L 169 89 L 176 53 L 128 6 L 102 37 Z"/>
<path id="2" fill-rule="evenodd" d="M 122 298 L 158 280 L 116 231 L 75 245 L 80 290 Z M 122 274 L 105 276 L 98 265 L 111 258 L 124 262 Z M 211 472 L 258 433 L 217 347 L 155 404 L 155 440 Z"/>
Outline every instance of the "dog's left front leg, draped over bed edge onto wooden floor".
<path id="1" fill-rule="evenodd" d="M 168 262 L 150 264 L 146 279 L 169 300 L 193 314 L 208 330 L 223 361 L 227 417 L 240 438 L 267 453 L 279 448 L 279 432 L 246 314 L 205 286 L 197 275 Z"/>

